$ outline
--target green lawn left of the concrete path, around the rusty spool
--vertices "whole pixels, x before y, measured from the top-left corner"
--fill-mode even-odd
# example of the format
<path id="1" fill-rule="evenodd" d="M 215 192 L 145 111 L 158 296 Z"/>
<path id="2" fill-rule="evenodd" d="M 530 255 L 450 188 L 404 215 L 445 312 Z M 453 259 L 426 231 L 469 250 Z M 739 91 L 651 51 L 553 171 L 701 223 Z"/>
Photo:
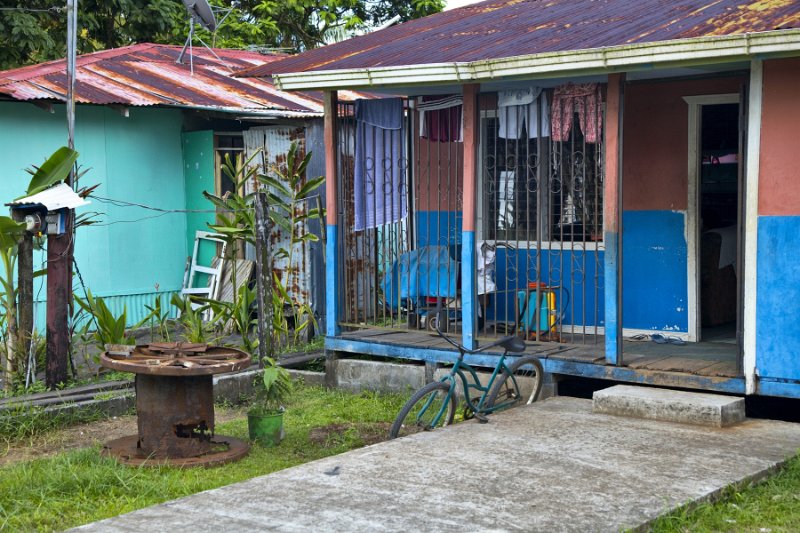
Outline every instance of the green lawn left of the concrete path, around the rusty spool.
<path id="1" fill-rule="evenodd" d="M 0 530 L 63 530 L 342 453 L 388 434 L 404 400 L 297 387 L 280 446 L 255 445 L 245 459 L 210 469 L 121 466 L 97 448 L 3 467 Z M 217 433 L 246 439 L 247 420 L 219 424 Z"/>

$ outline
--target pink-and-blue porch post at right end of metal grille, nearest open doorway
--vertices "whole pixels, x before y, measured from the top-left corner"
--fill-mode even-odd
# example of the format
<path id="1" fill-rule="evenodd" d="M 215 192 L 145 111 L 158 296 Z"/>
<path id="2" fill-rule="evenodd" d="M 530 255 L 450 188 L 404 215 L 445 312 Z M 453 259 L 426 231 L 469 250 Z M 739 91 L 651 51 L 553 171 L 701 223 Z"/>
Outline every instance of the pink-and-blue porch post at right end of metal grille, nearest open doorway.
<path id="1" fill-rule="evenodd" d="M 622 118 L 625 74 L 608 76 L 603 189 L 606 363 L 622 365 Z"/>

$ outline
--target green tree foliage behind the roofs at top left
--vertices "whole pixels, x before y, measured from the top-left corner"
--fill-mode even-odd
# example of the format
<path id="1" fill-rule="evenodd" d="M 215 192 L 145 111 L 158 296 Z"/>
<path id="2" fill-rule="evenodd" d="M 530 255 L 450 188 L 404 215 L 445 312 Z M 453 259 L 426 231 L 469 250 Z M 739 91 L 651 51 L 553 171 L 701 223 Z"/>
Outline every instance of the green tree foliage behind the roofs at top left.
<path id="1" fill-rule="evenodd" d="M 180 0 L 77 0 L 78 53 L 140 42 L 183 44 L 188 17 Z M 231 0 L 211 0 L 229 7 Z M 209 45 L 226 48 L 320 46 L 332 28 L 358 30 L 394 16 L 400 21 L 438 12 L 444 0 L 238 0 Z M 0 69 L 65 55 L 66 0 L 0 0 Z"/>

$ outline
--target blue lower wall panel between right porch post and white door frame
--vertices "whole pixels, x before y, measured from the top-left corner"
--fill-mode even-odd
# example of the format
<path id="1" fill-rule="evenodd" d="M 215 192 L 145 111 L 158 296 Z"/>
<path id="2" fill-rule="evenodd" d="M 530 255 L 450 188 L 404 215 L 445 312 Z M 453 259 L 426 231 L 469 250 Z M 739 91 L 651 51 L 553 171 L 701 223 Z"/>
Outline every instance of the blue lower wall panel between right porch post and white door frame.
<path id="1" fill-rule="evenodd" d="M 674 211 L 622 215 L 622 324 L 686 332 L 686 217 Z"/>

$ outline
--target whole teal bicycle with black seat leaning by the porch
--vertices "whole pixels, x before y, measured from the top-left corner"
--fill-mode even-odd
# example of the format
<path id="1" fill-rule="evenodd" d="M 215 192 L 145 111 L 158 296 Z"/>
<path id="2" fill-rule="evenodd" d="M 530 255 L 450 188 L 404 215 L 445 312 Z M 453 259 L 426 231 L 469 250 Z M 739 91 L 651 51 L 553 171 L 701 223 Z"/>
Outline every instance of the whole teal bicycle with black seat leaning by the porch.
<path id="1" fill-rule="evenodd" d="M 428 383 L 411 396 L 389 430 L 390 439 L 452 424 L 456 413 L 456 390 L 459 382 L 466 402 L 465 420 L 476 418 L 479 422 L 488 422 L 486 415 L 515 405 L 533 403 L 539 399 L 543 375 L 539 358 L 525 355 L 510 363 L 506 361 L 509 352 L 520 353 L 525 350 L 525 342 L 519 337 L 504 337 L 477 350 L 468 350 L 444 335 L 438 327 L 436 331 L 440 337 L 458 349 L 458 359 L 446 376 Z M 498 356 L 489 381 L 486 385 L 482 385 L 477 370 L 464 362 L 464 356 L 485 352 L 498 346 L 503 349 L 503 354 Z M 470 375 L 469 378 L 467 374 Z M 477 393 L 480 395 L 473 397 L 473 394 Z"/>

